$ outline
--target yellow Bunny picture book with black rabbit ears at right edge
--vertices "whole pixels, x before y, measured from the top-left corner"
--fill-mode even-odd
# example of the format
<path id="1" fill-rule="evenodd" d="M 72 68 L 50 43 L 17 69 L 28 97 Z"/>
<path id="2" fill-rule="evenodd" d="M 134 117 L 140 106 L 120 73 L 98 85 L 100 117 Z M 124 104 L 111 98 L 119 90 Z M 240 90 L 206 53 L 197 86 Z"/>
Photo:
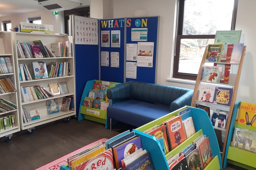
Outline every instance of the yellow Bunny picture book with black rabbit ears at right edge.
<path id="1" fill-rule="evenodd" d="M 256 104 L 240 102 L 237 123 L 256 127 Z"/>

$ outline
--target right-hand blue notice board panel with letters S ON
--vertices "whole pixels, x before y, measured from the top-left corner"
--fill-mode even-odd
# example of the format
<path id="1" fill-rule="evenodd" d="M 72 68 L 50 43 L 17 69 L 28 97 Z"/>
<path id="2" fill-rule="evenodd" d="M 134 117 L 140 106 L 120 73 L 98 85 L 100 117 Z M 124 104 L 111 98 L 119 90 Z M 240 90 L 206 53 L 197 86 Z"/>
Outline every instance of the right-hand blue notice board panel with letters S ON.
<path id="1" fill-rule="evenodd" d="M 158 25 L 158 16 L 126 18 L 126 45 L 138 44 L 137 61 L 127 61 L 126 59 L 126 62 L 137 62 L 137 77 L 136 79 L 126 78 L 126 82 L 136 80 L 147 83 L 155 83 Z M 152 46 L 153 44 L 152 48 L 148 47 L 147 44 L 149 44 L 149 46 Z M 141 54 L 140 50 L 143 51 Z"/>

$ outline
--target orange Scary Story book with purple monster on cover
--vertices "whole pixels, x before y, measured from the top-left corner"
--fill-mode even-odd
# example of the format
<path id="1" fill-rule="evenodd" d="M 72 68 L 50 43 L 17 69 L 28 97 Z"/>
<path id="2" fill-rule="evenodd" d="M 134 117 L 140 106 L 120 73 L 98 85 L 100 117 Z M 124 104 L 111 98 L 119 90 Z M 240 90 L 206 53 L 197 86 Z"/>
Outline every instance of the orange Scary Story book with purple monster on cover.
<path id="1" fill-rule="evenodd" d="M 165 122 L 165 125 L 172 149 L 176 148 L 187 139 L 181 116 L 176 116 L 173 119 Z"/>

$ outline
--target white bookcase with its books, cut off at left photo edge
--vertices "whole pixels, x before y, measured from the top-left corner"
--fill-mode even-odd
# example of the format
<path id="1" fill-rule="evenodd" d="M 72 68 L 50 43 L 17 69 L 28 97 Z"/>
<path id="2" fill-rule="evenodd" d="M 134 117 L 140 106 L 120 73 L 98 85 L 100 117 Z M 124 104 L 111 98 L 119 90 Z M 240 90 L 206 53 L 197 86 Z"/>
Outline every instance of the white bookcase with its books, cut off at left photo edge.
<path id="1" fill-rule="evenodd" d="M 10 141 L 12 134 L 20 131 L 12 38 L 11 32 L 0 31 L 0 137 L 5 136 L 5 141 Z M 10 107 L 5 105 L 6 101 Z"/>

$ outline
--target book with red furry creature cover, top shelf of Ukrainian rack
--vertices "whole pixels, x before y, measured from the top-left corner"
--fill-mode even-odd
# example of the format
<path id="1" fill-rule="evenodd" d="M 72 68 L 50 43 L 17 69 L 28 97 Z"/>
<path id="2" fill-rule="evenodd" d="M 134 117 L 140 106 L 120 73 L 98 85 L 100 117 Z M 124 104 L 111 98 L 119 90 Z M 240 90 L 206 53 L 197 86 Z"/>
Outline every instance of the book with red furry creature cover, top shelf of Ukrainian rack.
<path id="1" fill-rule="evenodd" d="M 222 55 L 223 44 L 208 44 L 205 61 L 219 62 Z"/>

